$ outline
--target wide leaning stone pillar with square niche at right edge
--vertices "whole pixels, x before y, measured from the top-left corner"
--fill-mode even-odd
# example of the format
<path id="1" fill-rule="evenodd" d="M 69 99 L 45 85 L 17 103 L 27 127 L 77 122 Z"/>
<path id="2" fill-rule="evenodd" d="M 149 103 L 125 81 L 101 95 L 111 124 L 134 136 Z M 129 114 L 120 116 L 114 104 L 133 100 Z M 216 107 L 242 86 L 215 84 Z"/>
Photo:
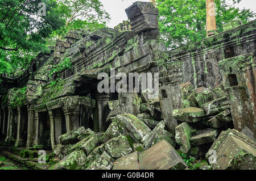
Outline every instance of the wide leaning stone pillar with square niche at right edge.
<path id="1" fill-rule="evenodd" d="M 256 140 L 256 59 L 253 54 L 219 62 L 234 128 Z"/>

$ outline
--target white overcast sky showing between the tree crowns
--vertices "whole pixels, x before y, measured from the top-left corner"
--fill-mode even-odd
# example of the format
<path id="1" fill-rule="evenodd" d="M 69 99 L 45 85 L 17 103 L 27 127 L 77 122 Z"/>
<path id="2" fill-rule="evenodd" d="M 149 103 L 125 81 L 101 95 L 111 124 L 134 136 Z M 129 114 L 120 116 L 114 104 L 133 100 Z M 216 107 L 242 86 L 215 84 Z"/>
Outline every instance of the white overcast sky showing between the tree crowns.
<path id="1" fill-rule="evenodd" d="M 134 2 L 143 1 L 149 2 L 149 0 L 100 0 L 104 5 L 104 9 L 109 12 L 110 22 L 107 24 L 108 27 L 114 28 L 119 23 L 122 23 L 123 20 L 128 20 L 125 13 L 125 9 L 131 6 Z M 229 0 L 231 1 L 231 0 Z M 255 0 L 242 0 L 239 5 L 240 9 L 250 9 L 251 11 L 256 12 L 256 1 Z"/>

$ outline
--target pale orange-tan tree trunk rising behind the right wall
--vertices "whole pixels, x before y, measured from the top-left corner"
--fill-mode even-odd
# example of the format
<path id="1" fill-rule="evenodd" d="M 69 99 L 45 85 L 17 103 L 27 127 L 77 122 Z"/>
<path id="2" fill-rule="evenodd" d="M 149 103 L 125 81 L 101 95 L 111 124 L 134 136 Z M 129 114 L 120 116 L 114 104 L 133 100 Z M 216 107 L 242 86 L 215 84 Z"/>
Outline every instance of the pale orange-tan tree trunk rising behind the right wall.
<path id="1" fill-rule="evenodd" d="M 215 14 L 215 7 L 214 7 L 214 0 L 207 0 L 206 1 L 206 7 L 207 7 L 207 36 L 215 35 L 215 32 L 217 31 L 217 25 L 216 25 L 216 14 Z"/>

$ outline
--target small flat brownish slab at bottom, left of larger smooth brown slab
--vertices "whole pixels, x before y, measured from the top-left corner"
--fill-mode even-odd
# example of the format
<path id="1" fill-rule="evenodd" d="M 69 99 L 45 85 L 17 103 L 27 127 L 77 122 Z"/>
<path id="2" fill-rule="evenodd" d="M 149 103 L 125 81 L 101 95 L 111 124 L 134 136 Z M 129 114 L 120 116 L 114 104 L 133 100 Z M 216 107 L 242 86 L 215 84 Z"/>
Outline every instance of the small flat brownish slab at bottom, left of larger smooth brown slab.
<path id="1" fill-rule="evenodd" d="M 138 170 L 138 153 L 133 152 L 118 158 L 117 161 L 113 163 L 112 170 Z"/>

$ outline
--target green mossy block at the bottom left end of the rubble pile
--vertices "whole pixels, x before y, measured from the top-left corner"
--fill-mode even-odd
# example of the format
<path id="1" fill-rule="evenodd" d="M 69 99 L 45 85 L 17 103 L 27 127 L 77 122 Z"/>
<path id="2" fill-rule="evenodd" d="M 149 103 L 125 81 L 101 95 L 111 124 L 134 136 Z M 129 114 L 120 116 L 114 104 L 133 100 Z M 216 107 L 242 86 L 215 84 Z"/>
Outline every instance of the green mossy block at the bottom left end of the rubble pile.
<path id="1" fill-rule="evenodd" d="M 67 155 L 63 160 L 61 160 L 56 165 L 53 165 L 50 169 L 51 170 L 75 170 L 78 165 L 80 165 L 86 158 L 84 151 L 76 150 L 73 151 L 71 154 Z"/>

